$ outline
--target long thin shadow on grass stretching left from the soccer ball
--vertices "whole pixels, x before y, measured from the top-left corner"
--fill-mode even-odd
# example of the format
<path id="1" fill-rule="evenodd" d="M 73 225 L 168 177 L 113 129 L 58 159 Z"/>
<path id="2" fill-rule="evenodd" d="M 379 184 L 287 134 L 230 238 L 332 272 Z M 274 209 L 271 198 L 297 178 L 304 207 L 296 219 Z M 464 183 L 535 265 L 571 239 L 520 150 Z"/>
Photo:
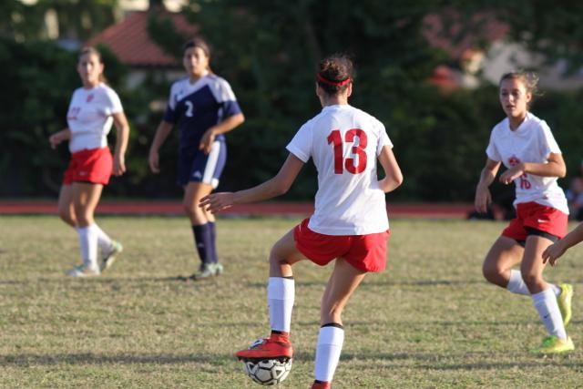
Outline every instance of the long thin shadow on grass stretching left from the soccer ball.
<path id="1" fill-rule="evenodd" d="M 103 355 L 94 353 L 61 354 L 14 354 L 0 355 L 0 366 L 52 366 L 57 364 L 174 364 L 174 363 L 217 363 L 231 355 L 200 354 L 160 354 L 160 355 Z"/>

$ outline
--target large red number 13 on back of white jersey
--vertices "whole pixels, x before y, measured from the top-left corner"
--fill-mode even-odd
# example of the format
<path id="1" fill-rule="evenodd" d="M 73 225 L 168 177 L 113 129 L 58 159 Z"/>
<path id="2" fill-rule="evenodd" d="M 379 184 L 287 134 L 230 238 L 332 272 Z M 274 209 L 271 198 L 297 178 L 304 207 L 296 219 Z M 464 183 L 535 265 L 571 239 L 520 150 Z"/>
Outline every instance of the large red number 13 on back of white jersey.
<path id="1" fill-rule="evenodd" d="M 354 145 L 352 153 L 358 156 L 358 164 L 355 159 L 347 158 L 343 160 L 343 138 L 339 129 L 333 129 L 328 136 L 328 143 L 334 146 L 334 173 L 343 174 L 344 168 L 349 173 L 359 174 L 366 169 L 366 133 L 360 128 L 352 128 L 344 134 L 346 143 L 354 143 L 354 138 L 358 138 L 358 145 Z"/>

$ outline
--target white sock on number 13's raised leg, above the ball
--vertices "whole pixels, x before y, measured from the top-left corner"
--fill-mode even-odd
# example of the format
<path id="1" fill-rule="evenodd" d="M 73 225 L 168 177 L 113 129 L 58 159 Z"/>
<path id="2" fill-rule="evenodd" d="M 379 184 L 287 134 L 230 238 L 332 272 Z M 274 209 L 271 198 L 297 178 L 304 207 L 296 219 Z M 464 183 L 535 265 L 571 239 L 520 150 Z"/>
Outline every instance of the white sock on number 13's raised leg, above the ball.
<path id="1" fill-rule="evenodd" d="M 270 277 L 267 285 L 267 301 L 270 306 L 271 330 L 290 332 L 294 297 L 293 279 Z"/>

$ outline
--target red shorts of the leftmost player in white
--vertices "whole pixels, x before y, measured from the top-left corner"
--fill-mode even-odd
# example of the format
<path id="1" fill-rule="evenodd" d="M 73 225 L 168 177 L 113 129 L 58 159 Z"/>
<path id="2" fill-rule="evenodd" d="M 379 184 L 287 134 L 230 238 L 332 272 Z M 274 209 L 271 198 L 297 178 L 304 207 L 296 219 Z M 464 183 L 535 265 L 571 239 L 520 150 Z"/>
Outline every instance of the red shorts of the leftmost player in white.
<path id="1" fill-rule="evenodd" d="M 71 155 L 63 185 L 71 185 L 73 182 L 107 185 L 112 172 L 113 157 L 109 148 L 86 148 Z"/>

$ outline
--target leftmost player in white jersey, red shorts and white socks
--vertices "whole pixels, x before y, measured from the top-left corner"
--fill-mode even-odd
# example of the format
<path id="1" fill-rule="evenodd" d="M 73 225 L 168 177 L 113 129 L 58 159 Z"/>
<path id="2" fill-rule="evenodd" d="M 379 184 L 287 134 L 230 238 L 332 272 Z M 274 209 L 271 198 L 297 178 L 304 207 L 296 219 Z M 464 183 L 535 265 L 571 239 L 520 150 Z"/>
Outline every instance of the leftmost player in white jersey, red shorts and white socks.
<path id="1" fill-rule="evenodd" d="M 120 176 L 126 171 L 129 136 L 128 120 L 118 94 L 106 85 L 103 70 L 103 60 L 95 48 L 81 50 L 77 72 L 83 87 L 71 98 L 66 114 L 68 128 L 49 138 L 53 148 L 68 140 L 71 152 L 59 193 L 58 212 L 79 235 L 83 263 L 68 272 L 73 277 L 98 275 L 111 266 L 122 251 L 121 244 L 112 241 L 94 220 L 103 186 L 107 185 L 112 173 Z M 118 130 L 113 157 L 107 147 L 112 123 Z"/>

